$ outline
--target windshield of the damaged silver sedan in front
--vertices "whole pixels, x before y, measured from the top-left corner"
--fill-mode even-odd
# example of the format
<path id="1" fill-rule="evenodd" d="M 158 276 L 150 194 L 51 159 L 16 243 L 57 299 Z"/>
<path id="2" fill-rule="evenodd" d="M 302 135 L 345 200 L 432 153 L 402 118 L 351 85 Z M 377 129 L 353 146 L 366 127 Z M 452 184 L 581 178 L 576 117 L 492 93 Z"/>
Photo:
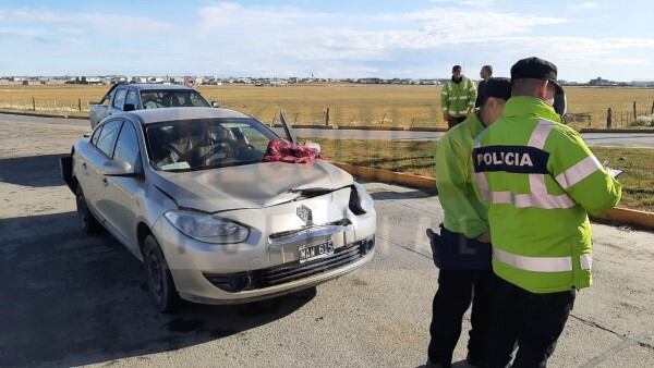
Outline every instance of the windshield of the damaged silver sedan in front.
<path id="1" fill-rule="evenodd" d="M 152 165 L 194 171 L 262 162 L 277 135 L 252 118 L 178 120 L 147 125 Z"/>

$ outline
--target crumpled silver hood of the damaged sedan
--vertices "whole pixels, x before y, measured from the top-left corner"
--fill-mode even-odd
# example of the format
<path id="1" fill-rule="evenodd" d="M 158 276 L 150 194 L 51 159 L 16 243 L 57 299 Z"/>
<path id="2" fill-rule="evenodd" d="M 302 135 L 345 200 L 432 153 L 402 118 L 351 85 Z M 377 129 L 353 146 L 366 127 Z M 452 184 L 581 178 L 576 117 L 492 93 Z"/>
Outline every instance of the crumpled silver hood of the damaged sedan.
<path id="1" fill-rule="evenodd" d="M 352 175 L 323 160 L 302 164 L 261 162 L 193 172 L 157 171 L 153 182 L 178 206 L 206 212 L 270 207 L 306 193 L 331 192 L 354 183 Z"/>

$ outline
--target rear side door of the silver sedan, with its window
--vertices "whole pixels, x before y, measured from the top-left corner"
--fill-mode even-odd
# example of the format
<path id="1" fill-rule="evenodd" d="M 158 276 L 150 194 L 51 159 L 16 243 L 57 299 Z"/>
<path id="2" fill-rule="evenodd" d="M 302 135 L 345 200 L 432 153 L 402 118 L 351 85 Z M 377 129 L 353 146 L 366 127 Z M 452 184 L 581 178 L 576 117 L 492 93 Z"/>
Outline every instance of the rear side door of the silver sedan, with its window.
<path id="1" fill-rule="evenodd" d="M 102 123 L 98 138 L 95 139 L 94 135 L 92 145 L 84 152 L 85 160 L 81 163 L 86 177 L 86 183 L 82 184 L 84 196 L 89 207 L 95 210 L 94 212 L 99 214 L 100 221 L 104 221 L 105 216 L 100 211 L 99 201 L 106 185 L 101 168 L 110 160 L 121 125 L 122 120 L 110 120 Z"/>

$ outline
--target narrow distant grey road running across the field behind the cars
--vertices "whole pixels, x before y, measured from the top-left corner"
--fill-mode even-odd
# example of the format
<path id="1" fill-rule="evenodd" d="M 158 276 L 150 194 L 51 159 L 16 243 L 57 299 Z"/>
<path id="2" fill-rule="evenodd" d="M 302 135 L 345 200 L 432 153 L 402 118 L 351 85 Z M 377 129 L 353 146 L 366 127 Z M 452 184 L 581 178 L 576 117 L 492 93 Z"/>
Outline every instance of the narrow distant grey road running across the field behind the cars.
<path id="1" fill-rule="evenodd" d="M 48 124 L 68 124 L 76 126 L 90 126 L 86 120 L 37 118 L 0 113 L 2 122 L 38 122 Z M 281 128 L 276 128 L 283 134 Z M 441 132 L 408 132 L 408 131 L 353 131 L 353 130 L 316 130 L 295 128 L 295 135 L 303 138 L 331 138 L 331 139 L 410 139 L 410 140 L 438 140 Z M 584 133 L 583 139 L 589 146 L 605 147 L 644 147 L 654 148 L 654 134 L 647 133 Z"/>

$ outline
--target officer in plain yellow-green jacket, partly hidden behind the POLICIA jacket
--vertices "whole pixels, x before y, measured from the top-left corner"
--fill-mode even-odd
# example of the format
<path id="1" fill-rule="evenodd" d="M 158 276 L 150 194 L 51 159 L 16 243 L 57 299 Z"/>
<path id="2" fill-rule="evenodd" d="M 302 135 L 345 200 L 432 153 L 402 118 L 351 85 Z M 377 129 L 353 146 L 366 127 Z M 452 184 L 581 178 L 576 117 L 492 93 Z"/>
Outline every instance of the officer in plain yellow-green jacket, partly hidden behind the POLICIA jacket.
<path id="1" fill-rule="evenodd" d="M 481 365 L 489 305 L 491 238 L 486 209 L 473 188 L 472 146 L 479 133 L 502 113 L 511 96 L 507 78 L 488 82 L 479 112 L 451 128 L 436 149 L 436 185 L 445 219 L 440 235 L 427 230 L 434 260 L 439 267 L 438 291 L 434 297 L 432 340 L 427 367 L 450 367 L 461 334 L 461 320 L 472 300 L 472 330 L 468 361 Z"/>

